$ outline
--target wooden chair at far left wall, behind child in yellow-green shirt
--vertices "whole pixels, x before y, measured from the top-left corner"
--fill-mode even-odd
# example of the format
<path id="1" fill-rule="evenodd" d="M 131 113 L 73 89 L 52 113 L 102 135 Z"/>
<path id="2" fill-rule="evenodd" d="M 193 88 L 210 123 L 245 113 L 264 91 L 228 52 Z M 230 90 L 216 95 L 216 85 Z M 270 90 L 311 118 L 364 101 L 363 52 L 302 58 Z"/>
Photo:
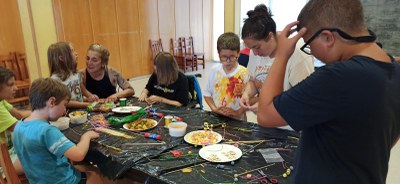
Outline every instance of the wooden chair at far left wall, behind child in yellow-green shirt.
<path id="1" fill-rule="evenodd" d="M 9 102 L 27 103 L 29 101 L 29 88 L 31 85 L 26 64 L 25 54 L 13 52 L 9 55 L 0 55 L 0 66 L 12 70 L 15 75 L 15 84 L 18 88 L 14 99 Z"/>

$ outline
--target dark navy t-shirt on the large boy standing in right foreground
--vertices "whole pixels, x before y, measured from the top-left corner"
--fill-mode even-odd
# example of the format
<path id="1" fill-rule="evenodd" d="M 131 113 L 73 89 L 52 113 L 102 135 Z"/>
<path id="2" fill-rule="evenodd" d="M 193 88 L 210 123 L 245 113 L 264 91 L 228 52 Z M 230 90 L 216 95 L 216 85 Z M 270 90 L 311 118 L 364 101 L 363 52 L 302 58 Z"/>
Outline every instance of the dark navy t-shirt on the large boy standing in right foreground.
<path id="1" fill-rule="evenodd" d="M 356 56 L 274 99 L 301 140 L 295 183 L 385 183 L 400 135 L 400 66 Z"/>

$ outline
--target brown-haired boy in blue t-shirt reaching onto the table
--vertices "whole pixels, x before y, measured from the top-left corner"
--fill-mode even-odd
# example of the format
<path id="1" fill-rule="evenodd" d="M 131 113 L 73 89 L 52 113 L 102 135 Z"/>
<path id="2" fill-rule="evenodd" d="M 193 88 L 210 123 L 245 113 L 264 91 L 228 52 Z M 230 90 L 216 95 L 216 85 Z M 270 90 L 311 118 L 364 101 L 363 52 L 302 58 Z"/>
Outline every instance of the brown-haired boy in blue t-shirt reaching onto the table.
<path id="1" fill-rule="evenodd" d="M 32 83 L 29 91 L 32 114 L 18 121 L 12 137 L 30 183 L 86 183 L 86 174 L 88 181 L 98 177 L 97 173 L 78 171 L 68 159 L 83 160 L 90 140 L 99 134 L 88 131 L 75 145 L 49 124 L 65 114 L 70 97 L 67 86 L 55 79 L 40 78 Z"/>

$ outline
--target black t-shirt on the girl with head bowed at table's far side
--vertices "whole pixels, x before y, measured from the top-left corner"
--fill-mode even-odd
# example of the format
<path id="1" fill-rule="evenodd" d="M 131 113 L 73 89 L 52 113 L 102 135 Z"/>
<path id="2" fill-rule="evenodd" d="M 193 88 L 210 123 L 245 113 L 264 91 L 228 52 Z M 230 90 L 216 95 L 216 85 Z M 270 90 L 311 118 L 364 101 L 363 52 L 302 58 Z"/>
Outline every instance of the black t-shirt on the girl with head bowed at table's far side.
<path id="1" fill-rule="evenodd" d="M 185 74 L 179 72 L 178 79 L 168 85 L 158 85 L 157 75 L 152 74 L 149 81 L 147 82 L 146 89 L 150 95 L 161 96 L 170 100 L 175 100 L 181 103 L 183 106 L 189 102 L 189 84 Z"/>

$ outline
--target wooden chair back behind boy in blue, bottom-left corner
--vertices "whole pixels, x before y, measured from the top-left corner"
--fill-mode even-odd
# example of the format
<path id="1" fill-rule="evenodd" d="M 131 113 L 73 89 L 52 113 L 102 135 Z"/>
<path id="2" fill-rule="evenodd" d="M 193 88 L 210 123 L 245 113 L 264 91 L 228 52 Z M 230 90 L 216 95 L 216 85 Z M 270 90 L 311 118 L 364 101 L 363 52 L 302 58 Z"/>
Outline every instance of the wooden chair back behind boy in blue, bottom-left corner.
<path id="1" fill-rule="evenodd" d="M 0 166 L 3 168 L 5 178 L 0 177 L 0 183 L 4 184 L 21 184 L 15 172 L 14 165 L 11 161 L 10 154 L 8 153 L 8 146 L 6 143 L 0 142 Z"/>

